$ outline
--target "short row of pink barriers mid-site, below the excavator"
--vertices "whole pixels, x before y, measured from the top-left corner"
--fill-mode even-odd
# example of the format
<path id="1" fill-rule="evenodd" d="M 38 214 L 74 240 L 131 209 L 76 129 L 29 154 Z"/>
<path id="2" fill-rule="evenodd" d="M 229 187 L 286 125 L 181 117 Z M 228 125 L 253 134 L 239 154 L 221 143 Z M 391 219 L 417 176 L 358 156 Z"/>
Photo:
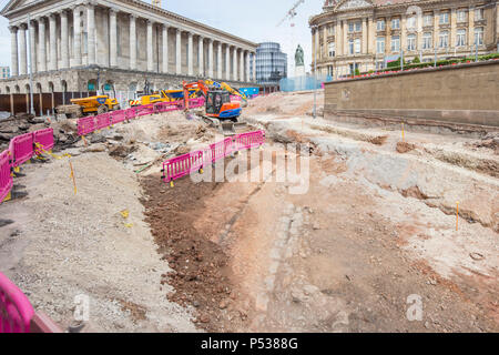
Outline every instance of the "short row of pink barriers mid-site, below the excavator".
<path id="1" fill-rule="evenodd" d="M 173 183 L 173 181 L 214 164 L 234 152 L 261 146 L 264 143 L 265 131 L 241 133 L 226 138 L 223 141 L 211 144 L 206 149 L 164 161 L 162 179 L 165 183 Z"/>

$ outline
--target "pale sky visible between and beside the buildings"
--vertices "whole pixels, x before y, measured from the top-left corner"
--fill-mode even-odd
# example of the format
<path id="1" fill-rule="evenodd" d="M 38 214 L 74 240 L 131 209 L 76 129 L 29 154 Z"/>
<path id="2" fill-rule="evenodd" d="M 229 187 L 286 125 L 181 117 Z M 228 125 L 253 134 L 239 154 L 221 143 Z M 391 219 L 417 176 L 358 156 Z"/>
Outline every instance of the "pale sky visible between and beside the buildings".
<path id="1" fill-rule="evenodd" d="M 0 0 L 0 8 L 9 0 Z M 149 2 L 149 1 L 146 1 Z M 305 0 L 291 21 L 277 24 L 297 0 L 162 0 L 163 9 L 230 32 L 249 41 L 278 42 L 288 54 L 288 75 L 294 73 L 294 53 L 298 43 L 305 51 L 306 70 L 310 70 L 312 34 L 308 18 L 320 13 L 324 0 Z M 10 65 L 9 22 L 0 17 L 0 65 Z"/>

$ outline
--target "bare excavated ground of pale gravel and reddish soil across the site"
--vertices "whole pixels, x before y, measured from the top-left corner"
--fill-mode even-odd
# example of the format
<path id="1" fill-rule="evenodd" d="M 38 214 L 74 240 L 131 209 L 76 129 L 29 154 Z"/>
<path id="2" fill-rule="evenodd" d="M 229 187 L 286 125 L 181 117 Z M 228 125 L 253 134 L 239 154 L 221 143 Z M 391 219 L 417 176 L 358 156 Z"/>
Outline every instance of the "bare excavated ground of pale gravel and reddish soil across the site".
<path id="1" fill-rule="evenodd" d="M 63 324 L 89 294 L 103 331 L 498 332 L 497 133 L 403 141 L 312 108 L 252 100 L 243 119 L 267 144 L 217 164 L 223 182 L 160 181 L 163 159 L 221 139 L 179 113 L 69 150 L 77 196 L 67 161 L 27 166 L 28 196 L 0 205 L 0 270 Z M 312 152 L 303 180 L 277 182 L 297 158 L 283 143 Z"/>

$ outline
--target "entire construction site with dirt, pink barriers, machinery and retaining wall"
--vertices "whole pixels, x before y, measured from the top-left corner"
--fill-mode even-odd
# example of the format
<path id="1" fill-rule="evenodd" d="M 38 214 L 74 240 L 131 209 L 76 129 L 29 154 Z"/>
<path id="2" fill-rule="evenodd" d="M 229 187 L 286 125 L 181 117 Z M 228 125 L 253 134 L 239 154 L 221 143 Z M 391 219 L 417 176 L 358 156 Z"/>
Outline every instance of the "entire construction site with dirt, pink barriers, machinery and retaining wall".
<path id="1" fill-rule="evenodd" d="M 0 333 L 499 332 L 498 59 L 12 110 Z"/>

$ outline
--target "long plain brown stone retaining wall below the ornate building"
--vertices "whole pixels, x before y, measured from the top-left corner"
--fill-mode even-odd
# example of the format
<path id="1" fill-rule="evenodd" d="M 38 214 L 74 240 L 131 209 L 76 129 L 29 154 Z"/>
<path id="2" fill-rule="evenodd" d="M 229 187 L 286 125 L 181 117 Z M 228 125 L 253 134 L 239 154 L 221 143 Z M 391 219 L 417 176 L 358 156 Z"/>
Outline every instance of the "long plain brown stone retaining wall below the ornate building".
<path id="1" fill-rule="evenodd" d="M 499 61 L 326 83 L 325 116 L 338 114 L 499 126 Z"/>

